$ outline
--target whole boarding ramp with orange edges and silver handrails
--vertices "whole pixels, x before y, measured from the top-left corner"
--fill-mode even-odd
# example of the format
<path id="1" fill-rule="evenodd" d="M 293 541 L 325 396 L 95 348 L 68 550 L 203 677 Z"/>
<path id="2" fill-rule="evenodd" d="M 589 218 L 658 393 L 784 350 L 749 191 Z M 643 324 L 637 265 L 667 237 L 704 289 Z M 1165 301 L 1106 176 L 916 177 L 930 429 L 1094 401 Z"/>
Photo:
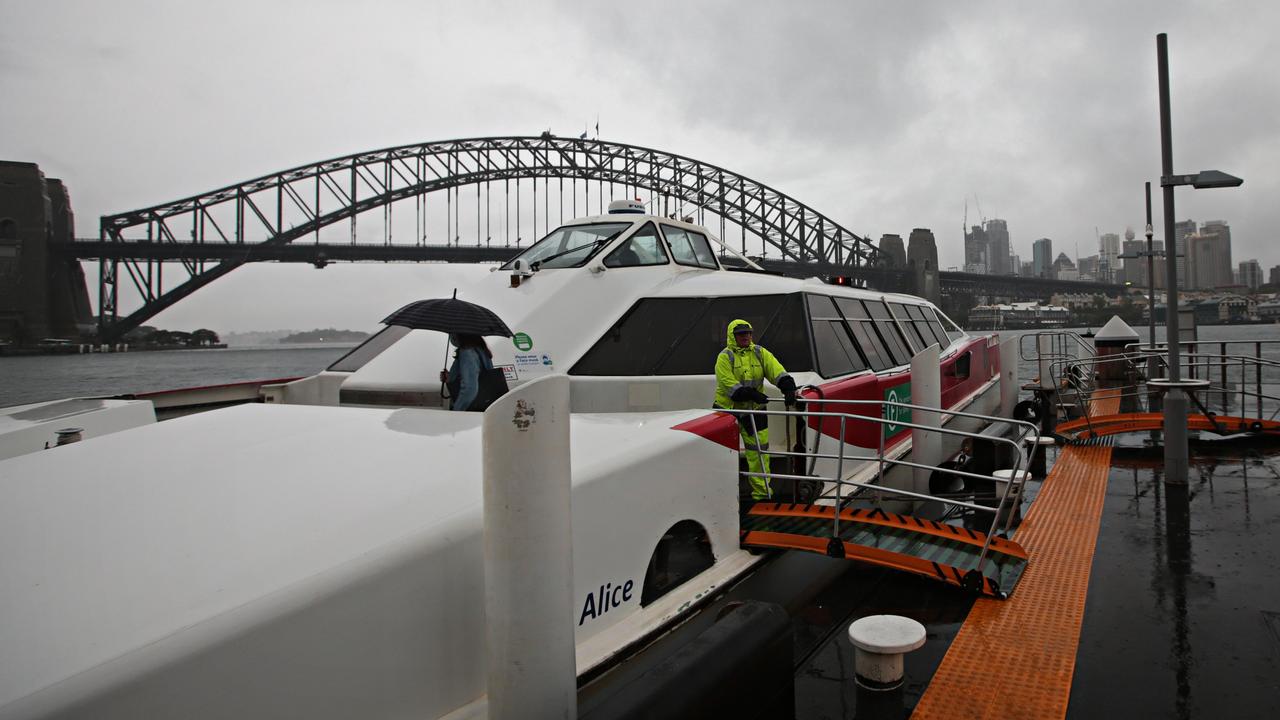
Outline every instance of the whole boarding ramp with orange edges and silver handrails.
<path id="1" fill-rule="evenodd" d="M 780 402 L 773 400 L 773 402 Z M 810 406 L 844 406 L 840 410 L 809 410 Z M 881 416 L 858 413 L 876 406 Z M 938 411 L 905 402 L 869 400 L 809 400 L 799 410 L 767 410 L 765 414 L 785 423 L 799 423 L 803 428 L 820 428 L 835 421 L 837 437 L 847 437 L 850 423 L 873 423 L 897 429 L 941 433 L 966 438 L 970 442 L 996 442 L 1009 446 L 1015 459 L 1014 466 L 995 474 L 970 473 L 951 468 L 947 473 L 964 479 L 974 488 L 993 488 L 993 496 L 969 491 L 956 495 L 925 495 L 892 482 L 893 470 L 938 471 L 938 468 L 906 460 L 905 447 L 887 447 L 890 433 L 881 432 L 878 457 L 872 471 L 865 471 L 867 457 L 852 456 L 846 443 L 836 443 L 833 452 L 818 450 L 771 451 L 778 465 L 808 469 L 806 473 L 744 473 L 767 478 L 771 483 L 820 484 L 820 492 L 808 502 L 753 502 L 744 507 L 741 518 L 741 544 L 749 548 L 786 548 L 817 552 L 882 568 L 891 568 L 965 588 L 988 597 L 1006 598 L 1012 593 L 1027 566 L 1027 552 L 1009 533 L 1019 518 L 1027 470 L 1027 441 L 1038 436 L 1030 423 L 1012 421 L 1015 438 L 984 436 L 947 427 L 934 427 L 901 418 L 906 411 L 936 413 L 942 418 L 969 418 L 986 424 L 1010 423 L 1002 418 L 974 413 Z M 750 413 L 742 413 L 751 418 Z M 822 437 L 818 433 L 817 437 Z M 815 448 L 819 443 L 814 443 Z M 783 460 L 785 459 L 785 460 Z M 819 460 L 835 461 L 835 471 L 814 474 Z M 855 470 L 863 468 L 861 471 Z M 869 477 L 864 477 L 869 475 Z M 901 473 L 899 473 L 901 477 Z M 937 519 L 919 512 L 892 512 L 886 510 L 906 506 L 910 509 L 942 507 Z"/>

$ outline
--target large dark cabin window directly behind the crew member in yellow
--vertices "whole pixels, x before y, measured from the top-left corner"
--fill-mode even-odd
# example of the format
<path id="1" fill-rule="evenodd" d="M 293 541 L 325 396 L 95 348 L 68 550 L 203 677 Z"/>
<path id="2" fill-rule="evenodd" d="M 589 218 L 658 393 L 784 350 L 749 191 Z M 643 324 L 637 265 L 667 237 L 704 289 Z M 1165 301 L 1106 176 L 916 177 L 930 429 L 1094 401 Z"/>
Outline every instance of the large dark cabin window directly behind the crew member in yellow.
<path id="1" fill-rule="evenodd" d="M 724 348 L 724 332 L 731 320 L 744 319 L 755 328 L 755 341 L 767 347 L 788 372 L 813 369 L 809 334 L 799 297 L 753 295 L 713 297 L 692 328 L 662 359 L 658 375 L 707 375 L 716 368 L 716 356 Z"/>

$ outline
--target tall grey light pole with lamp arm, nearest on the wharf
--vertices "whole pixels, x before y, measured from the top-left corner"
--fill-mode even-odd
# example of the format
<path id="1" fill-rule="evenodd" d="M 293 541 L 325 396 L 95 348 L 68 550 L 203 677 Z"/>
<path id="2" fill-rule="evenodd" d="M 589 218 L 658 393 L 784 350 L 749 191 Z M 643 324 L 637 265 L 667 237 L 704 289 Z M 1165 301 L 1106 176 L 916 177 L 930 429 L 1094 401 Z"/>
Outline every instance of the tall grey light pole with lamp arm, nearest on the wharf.
<path id="1" fill-rule="evenodd" d="M 1165 396 L 1165 482 L 1187 484 L 1187 388 L 1181 379 L 1181 348 L 1178 345 L 1178 249 L 1174 237 L 1174 188 L 1189 184 L 1196 188 L 1236 187 L 1244 181 L 1219 170 L 1193 176 L 1174 174 L 1174 145 L 1169 110 L 1169 36 L 1156 36 L 1156 65 L 1160 83 L 1160 187 L 1165 191 L 1165 278 L 1169 299 L 1165 301 L 1165 341 L 1169 345 L 1169 378 Z M 1198 383 L 1197 383 L 1198 384 Z"/>

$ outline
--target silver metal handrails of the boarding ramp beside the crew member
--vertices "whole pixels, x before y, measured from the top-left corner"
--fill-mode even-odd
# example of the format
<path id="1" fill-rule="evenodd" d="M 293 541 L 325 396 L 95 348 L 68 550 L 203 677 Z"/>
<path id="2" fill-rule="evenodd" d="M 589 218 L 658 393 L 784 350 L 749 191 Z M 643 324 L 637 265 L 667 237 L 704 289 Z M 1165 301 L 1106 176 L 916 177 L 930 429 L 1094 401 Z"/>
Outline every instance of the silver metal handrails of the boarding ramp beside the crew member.
<path id="1" fill-rule="evenodd" d="M 772 397 L 769 398 L 769 401 L 771 402 L 781 402 L 780 398 L 772 398 Z M 928 411 L 928 413 L 937 413 L 940 416 L 941 415 L 964 416 L 964 418 L 973 418 L 973 419 L 986 420 L 988 423 L 1010 423 L 1010 424 L 1012 424 L 1015 427 L 1021 427 L 1023 428 L 1024 432 L 1018 436 L 1019 439 L 1014 441 L 1014 439 L 1009 439 L 1009 438 L 1005 438 L 1005 437 L 991 437 L 991 436 L 983 436 L 982 433 L 977 433 L 977 432 L 957 430 L 957 429 L 954 429 L 954 428 L 943 428 L 941 425 L 940 427 L 923 425 L 923 424 L 919 424 L 919 423 L 913 423 L 910 420 L 900 420 L 900 419 L 890 420 L 888 418 L 883 418 L 883 416 L 877 418 L 877 416 L 873 416 L 873 415 L 859 415 L 859 414 L 854 414 L 854 413 L 827 413 L 827 411 L 810 411 L 810 410 L 768 410 L 768 409 L 764 409 L 764 410 L 726 410 L 727 413 L 730 413 L 732 415 L 750 418 L 751 429 L 756 430 L 756 432 L 759 430 L 759 428 L 755 425 L 755 415 L 765 415 L 765 416 L 769 416 L 769 418 L 772 418 L 772 416 L 780 416 L 780 418 L 783 419 L 783 421 L 788 421 L 790 418 L 801 418 L 801 419 L 805 420 L 805 427 L 806 428 L 808 428 L 808 421 L 810 419 L 813 419 L 813 418 L 829 418 L 829 419 L 836 419 L 836 420 L 840 421 L 840 442 L 838 442 L 838 452 L 837 454 L 819 454 L 818 452 L 817 445 L 818 445 L 818 442 L 820 442 L 820 437 L 824 434 L 822 432 L 820 427 L 817 428 L 817 430 L 815 430 L 817 432 L 817 437 L 819 439 L 818 439 L 818 442 L 814 443 L 814 450 L 812 452 L 810 451 L 806 451 L 806 452 L 792 452 L 790 450 L 786 450 L 786 451 L 782 451 L 782 452 L 769 452 L 768 454 L 771 456 L 781 456 L 781 457 L 808 457 L 808 459 L 836 460 L 836 474 L 833 477 L 815 475 L 815 474 L 810 474 L 810 475 L 795 475 L 795 474 L 786 474 L 786 473 L 773 473 L 772 468 L 769 469 L 769 471 L 765 471 L 765 473 L 754 473 L 754 471 L 744 473 L 746 477 L 765 478 L 767 480 L 772 480 L 774 478 L 778 478 L 778 479 L 819 480 L 822 483 L 833 483 L 836 486 L 836 497 L 835 497 L 836 511 L 832 514 L 832 538 L 833 539 L 838 539 L 840 538 L 840 509 L 841 509 L 841 506 L 844 503 L 844 498 L 852 497 L 855 495 L 855 492 L 851 492 L 851 493 L 846 495 L 844 492 L 845 486 L 850 486 L 850 487 L 856 488 L 859 491 L 874 491 L 877 493 L 877 500 L 876 500 L 877 502 L 879 502 L 881 493 L 890 493 L 890 495 L 901 496 L 901 497 L 911 498 L 911 500 L 940 502 L 940 503 L 943 503 L 943 505 L 947 505 L 947 506 L 964 507 L 966 510 L 992 512 L 991 527 L 989 527 L 988 532 L 986 533 L 986 539 L 983 542 L 982 551 L 978 555 L 978 564 L 974 568 L 974 570 L 977 570 L 979 574 L 982 574 L 983 565 L 986 564 L 987 557 L 988 557 L 988 551 L 989 551 L 989 547 L 991 547 L 991 538 L 995 537 L 995 534 L 998 530 L 1001 530 L 1001 529 L 1007 533 L 1010 525 L 1012 524 L 1012 516 L 1014 516 L 1014 514 L 1012 512 L 1005 512 L 1006 507 L 1010 509 L 1010 510 L 1012 509 L 1011 503 L 1010 503 L 1010 497 L 1011 496 L 1018 497 L 1019 502 L 1021 502 L 1020 498 L 1023 497 L 1023 489 L 1024 489 L 1024 487 L 1027 484 L 1025 478 L 1028 477 L 1028 474 L 1024 474 L 1023 468 L 1029 464 L 1028 462 L 1028 457 L 1027 457 L 1027 451 L 1024 450 L 1024 447 L 1023 447 L 1021 443 L 1028 437 L 1028 434 L 1027 434 L 1028 432 L 1030 434 L 1033 434 L 1033 436 L 1038 436 L 1039 434 L 1039 428 L 1037 428 L 1034 424 L 1027 423 L 1024 420 L 1010 420 L 1010 419 L 997 418 L 997 416 L 992 416 L 992 415 L 982 415 L 982 414 L 978 414 L 978 413 L 965 413 L 965 411 L 960 411 L 960 410 L 943 410 L 943 409 L 938 409 L 938 407 L 927 407 L 927 406 L 923 406 L 923 405 L 913 405 L 913 404 L 909 404 L 909 402 L 892 402 L 892 401 L 878 401 L 878 400 L 805 398 L 805 404 L 806 405 L 820 405 L 820 404 L 827 404 L 827 402 L 836 404 L 836 405 L 878 405 L 882 409 L 886 407 L 886 406 L 890 406 L 890 407 L 902 407 L 902 409 L 910 409 L 910 410 L 922 410 L 922 411 Z M 947 498 L 947 497 L 938 497 L 938 496 L 933 496 L 933 495 L 922 495 L 922 493 L 913 492 L 913 491 L 895 488 L 895 487 L 891 487 L 891 486 L 887 486 L 887 484 L 870 484 L 870 483 L 860 483 L 860 482 L 855 482 L 855 480 L 851 480 L 851 479 L 846 479 L 844 477 L 845 475 L 844 465 L 845 465 L 845 459 L 849 457 L 845 454 L 845 447 L 849 446 L 849 443 L 845 442 L 845 437 L 847 434 L 847 424 L 849 424 L 849 421 L 859 421 L 859 423 L 868 423 L 869 421 L 869 423 L 874 423 L 877 425 L 890 425 L 890 427 L 893 427 L 893 428 L 913 429 L 913 430 L 914 429 L 920 429 L 920 430 L 925 430 L 925 432 L 937 432 L 940 434 L 968 437 L 968 438 L 980 438 L 983 441 L 992 441 L 992 442 L 1005 443 L 1005 445 L 1011 446 L 1012 450 L 1014 450 L 1014 457 L 1015 457 L 1014 468 L 1012 468 L 1014 473 L 1012 473 L 1012 477 L 1007 482 L 1005 482 L 1004 479 L 996 478 L 993 475 L 983 475 L 983 474 L 978 474 L 978 473 L 969 473 L 966 470 L 959 470 L 959 469 L 956 469 L 956 470 L 947 470 L 947 473 L 954 474 L 954 475 L 966 477 L 966 478 L 974 478 L 974 479 L 982 479 L 982 480 L 988 480 L 988 482 L 992 482 L 992 483 L 1000 483 L 1000 484 L 1002 484 L 1004 487 L 1002 487 L 1002 492 L 1000 493 L 1000 501 L 998 501 L 998 503 L 995 507 L 989 507 L 989 506 L 986 506 L 986 505 L 972 503 L 972 502 L 964 502 L 964 501 L 960 501 L 960 500 L 954 500 L 954 498 Z M 822 423 L 822 420 L 819 420 L 819 423 Z M 940 423 L 941 423 L 941 418 L 940 418 Z M 886 464 L 888 464 L 891 466 L 904 466 L 904 468 L 911 468 L 911 469 L 916 469 L 916 468 L 918 469 L 936 469 L 936 468 L 933 468 L 931 465 L 924 465 L 924 464 L 920 464 L 920 462 L 911 462 L 909 460 L 886 457 L 884 456 L 884 433 L 883 432 L 879 433 L 879 445 L 881 445 L 879 452 L 878 452 L 879 471 L 877 473 L 877 477 L 879 478 L 881 483 L 883 483 L 883 480 L 886 479 L 886 474 L 884 474 L 886 473 L 886 470 L 884 470 L 884 465 Z M 852 456 L 852 457 L 850 457 L 850 460 L 868 460 L 868 459 L 867 457 Z M 823 497 L 826 497 L 826 496 L 819 497 L 819 500 L 822 500 Z M 1005 524 L 1004 524 L 1002 528 L 1000 527 L 1001 514 L 1005 514 Z"/>

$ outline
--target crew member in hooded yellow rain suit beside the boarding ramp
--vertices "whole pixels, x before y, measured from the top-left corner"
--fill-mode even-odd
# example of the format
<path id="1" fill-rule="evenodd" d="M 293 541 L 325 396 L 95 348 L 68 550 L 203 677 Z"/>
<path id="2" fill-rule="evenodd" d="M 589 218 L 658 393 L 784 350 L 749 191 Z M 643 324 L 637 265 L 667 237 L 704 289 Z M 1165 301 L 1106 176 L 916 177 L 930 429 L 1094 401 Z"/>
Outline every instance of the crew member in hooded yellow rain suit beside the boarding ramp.
<path id="1" fill-rule="evenodd" d="M 769 396 L 762 388 L 769 380 L 782 391 L 787 407 L 795 405 L 796 382 L 772 352 L 753 342 L 751 323 L 733 320 L 726 333 L 726 347 L 716 356 L 716 407 L 748 410 L 736 413 L 742 437 L 746 468 L 751 473 L 769 471 L 769 416 L 751 410 L 764 410 Z M 773 488 L 768 478 L 749 475 L 753 500 L 769 500 Z"/>

